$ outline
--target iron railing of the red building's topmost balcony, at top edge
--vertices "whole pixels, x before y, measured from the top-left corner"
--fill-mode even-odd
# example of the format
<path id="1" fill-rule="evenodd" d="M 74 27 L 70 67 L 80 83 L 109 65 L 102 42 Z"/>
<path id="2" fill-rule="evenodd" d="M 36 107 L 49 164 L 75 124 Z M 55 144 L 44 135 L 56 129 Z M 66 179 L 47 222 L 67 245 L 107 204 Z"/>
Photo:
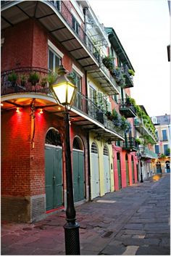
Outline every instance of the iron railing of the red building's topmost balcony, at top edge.
<path id="1" fill-rule="evenodd" d="M 70 28 L 74 31 L 75 35 L 78 36 L 78 38 L 86 46 L 88 51 L 90 51 L 91 54 L 93 54 L 93 57 L 95 57 L 96 60 L 99 62 L 99 52 L 97 51 L 96 46 L 93 45 L 91 39 L 87 36 L 83 28 L 81 28 L 81 26 L 75 20 L 75 17 L 64 4 L 64 1 L 50 1 L 50 3 L 55 7 L 55 9 L 57 9 L 57 12 L 62 15 L 64 20 L 67 22 L 67 25 L 70 26 Z"/>

